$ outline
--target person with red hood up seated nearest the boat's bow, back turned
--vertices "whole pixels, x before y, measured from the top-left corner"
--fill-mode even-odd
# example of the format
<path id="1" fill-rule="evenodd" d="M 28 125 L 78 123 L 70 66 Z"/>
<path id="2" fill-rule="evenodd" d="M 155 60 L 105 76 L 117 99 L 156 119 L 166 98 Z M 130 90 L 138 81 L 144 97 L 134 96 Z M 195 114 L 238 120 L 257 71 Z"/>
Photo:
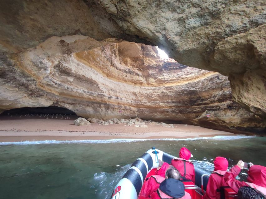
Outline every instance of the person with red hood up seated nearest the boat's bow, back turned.
<path id="1" fill-rule="evenodd" d="M 195 184 L 195 169 L 191 161 L 188 161 L 191 155 L 191 152 L 183 147 L 179 151 L 179 158 L 172 160 L 170 165 L 173 165 L 181 174 L 181 180 L 191 180 Z"/>

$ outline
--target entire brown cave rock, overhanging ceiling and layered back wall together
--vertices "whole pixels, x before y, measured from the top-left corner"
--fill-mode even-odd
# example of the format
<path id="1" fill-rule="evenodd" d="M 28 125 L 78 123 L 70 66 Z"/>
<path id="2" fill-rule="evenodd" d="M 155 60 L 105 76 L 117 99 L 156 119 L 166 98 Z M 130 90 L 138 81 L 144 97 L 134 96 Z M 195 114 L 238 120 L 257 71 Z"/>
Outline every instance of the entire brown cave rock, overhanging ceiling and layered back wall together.
<path id="1" fill-rule="evenodd" d="M 3 0 L 0 113 L 60 105 L 106 119 L 163 115 L 205 126 L 265 127 L 265 7 L 263 0 Z M 182 64 L 229 76 L 233 100 L 257 117 L 231 101 L 226 77 L 110 38 L 158 45 Z M 206 110 L 220 116 L 206 124 Z M 238 119 L 220 123 L 229 120 L 223 115 Z"/>

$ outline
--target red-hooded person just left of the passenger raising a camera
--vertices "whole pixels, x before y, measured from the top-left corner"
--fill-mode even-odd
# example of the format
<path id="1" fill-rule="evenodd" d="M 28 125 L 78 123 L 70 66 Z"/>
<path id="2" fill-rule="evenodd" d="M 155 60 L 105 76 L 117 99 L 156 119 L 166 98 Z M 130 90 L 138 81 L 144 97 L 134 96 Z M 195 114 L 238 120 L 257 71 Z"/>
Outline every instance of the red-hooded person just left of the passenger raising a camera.
<path id="1" fill-rule="evenodd" d="M 216 157 L 213 163 L 214 171 L 210 174 L 206 193 L 202 199 L 220 199 L 220 187 L 227 186 L 224 175 L 228 168 L 228 161 L 224 157 Z"/>

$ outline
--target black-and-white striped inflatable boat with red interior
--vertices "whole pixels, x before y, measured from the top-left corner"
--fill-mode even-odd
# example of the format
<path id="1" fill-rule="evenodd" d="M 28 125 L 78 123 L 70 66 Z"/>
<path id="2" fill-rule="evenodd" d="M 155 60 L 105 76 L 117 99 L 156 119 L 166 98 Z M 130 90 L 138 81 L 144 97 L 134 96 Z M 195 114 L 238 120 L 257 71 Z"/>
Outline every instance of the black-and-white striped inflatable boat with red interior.
<path id="1" fill-rule="evenodd" d="M 152 149 L 144 153 L 140 158 L 135 160 L 122 179 L 116 185 L 111 199 L 138 199 L 146 178 L 154 175 L 158 168 L 158 160 L 171 163 L 175 156 L 167 154 L 161 150 Z M 201 199 L 205 194 L 206 186 L 210 173 L 195 167 L 196 181 L 183 182 L 185 191 L 191 195 L 192 199 Z M 235 199 L 236 193 L 229 187 L 224 187 L 221 191 L 221 199 Z"/>

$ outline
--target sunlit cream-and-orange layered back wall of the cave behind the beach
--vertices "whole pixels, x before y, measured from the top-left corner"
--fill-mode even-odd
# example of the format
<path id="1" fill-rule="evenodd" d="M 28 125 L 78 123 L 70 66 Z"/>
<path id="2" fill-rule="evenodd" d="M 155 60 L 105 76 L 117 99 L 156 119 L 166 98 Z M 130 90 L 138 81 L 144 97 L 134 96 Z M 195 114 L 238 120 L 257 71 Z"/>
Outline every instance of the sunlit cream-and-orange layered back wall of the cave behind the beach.
<path id="1" fill-rule="evenodd" d="M 56 105 L 103 125 L 136 117 L 238 132 L 266 125 L 231 100 L 226 76 L 162 59 L 145 44 L 53 36 L 6 54 L 1 75 L 2 110 Z"/>

